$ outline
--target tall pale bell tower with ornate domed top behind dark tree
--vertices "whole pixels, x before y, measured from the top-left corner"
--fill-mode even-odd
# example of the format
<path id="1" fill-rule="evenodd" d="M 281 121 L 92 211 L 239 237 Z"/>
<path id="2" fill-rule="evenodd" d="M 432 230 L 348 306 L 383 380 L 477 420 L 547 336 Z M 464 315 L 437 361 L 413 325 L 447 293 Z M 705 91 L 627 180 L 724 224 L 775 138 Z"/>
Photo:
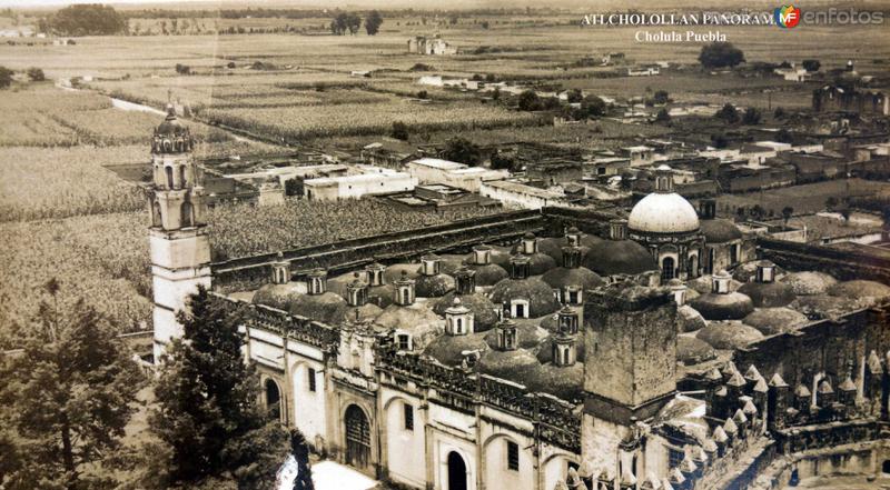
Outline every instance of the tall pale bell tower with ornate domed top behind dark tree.
<path id="1" fill-rule="evenodd" d="M 155 308 L 155 361 L 182 336 L 176 313 L 198 286 L 210 288 L 201 171 L 191 159 L 195 140 L 172 107 L 151 138 L 152 183 L 148 192 L 149 249 Z"/>

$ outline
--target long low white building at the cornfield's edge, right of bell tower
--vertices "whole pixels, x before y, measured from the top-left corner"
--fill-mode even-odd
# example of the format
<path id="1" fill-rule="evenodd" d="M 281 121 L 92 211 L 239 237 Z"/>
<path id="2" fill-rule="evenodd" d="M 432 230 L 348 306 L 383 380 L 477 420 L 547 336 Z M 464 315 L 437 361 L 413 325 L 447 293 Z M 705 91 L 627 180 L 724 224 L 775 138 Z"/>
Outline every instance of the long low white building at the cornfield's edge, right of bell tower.
<path id="1" fill-rule="evenodd" d="M 412 191 L 416 186 L 417 179 L 408 173 L 395 171 L 325 177 L 304 182 L 306 198 L 316 201 L 358 199 L 364 196 Z"/>

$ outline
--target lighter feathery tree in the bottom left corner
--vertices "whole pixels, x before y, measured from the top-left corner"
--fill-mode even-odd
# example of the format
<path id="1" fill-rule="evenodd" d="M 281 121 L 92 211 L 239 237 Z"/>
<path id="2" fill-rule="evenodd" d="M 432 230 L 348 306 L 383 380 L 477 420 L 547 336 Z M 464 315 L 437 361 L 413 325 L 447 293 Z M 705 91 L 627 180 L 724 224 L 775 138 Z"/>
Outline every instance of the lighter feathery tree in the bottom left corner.
<path id="1" fill-rule="evenodd" d="M 115 486 L 115 456 L 142 384 L 115 328 L 82 300 L 70 311 L 43 302 L 22 334 L 22 353 L 0 366 L 0 487 Z"/>

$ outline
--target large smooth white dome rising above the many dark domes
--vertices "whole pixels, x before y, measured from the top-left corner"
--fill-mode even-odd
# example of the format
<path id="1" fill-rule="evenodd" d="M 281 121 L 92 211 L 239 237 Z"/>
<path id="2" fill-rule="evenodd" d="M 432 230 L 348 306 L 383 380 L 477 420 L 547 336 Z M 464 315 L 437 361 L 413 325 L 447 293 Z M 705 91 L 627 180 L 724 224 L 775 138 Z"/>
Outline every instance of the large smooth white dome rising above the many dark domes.
<path id="1" fill-rule="evenodd" d="M 692 204 L 674 192 L 653 192 L 631 210 L 627 228 L 646 233 L 684 233 L 699 229 Z"/>

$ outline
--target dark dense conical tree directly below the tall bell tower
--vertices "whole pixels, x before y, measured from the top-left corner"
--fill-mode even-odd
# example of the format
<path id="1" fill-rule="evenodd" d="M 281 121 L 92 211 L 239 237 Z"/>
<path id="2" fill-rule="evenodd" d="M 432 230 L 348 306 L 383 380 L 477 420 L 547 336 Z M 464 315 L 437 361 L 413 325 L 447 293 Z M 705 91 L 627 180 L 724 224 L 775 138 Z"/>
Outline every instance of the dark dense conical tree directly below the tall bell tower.
<path id="1" fill-rule="evenodd" d="M 259 382 L 244 362 L 243 314 L 200 288 L 189 312 L 179 312 L 184 338 L 165 357 L 155 388 L 159 408 L 149 424 L 170 451 L 169 484 L 235 479 L 239 488 L 266 488 L 287 454 L 287 434 L 259 407 Z"/>

